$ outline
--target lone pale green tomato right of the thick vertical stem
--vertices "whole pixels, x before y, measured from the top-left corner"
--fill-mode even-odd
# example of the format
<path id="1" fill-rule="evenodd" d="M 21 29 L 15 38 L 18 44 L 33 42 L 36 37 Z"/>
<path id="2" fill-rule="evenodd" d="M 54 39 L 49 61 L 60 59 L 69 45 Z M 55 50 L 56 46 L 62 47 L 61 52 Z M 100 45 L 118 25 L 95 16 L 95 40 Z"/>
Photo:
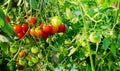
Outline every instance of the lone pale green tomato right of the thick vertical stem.
<path id="1" fill-rule="evenodd" d="M 92 32 L 89 36 L 89 39 L 93 43 L 98 43 L 101 41 L 101 34 L 98 32 Z"/>

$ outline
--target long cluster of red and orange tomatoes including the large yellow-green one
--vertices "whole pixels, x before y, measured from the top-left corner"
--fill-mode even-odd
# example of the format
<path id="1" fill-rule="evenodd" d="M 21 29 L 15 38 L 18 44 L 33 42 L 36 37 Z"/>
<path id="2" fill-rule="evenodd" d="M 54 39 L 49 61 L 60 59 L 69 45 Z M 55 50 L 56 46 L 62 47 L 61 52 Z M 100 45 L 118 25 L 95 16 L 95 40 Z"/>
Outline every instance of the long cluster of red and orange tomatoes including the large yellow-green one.
<path id="1" fill-rule="evenodd" d="M 42 23 L 36 26 L 36 23 L 36 17 L 29 16 L 27 24 L 16 24 L 13 29 L 19 39 L 23 38 L 26 32 L 36 38 L 40 36 L 47 38 L 55 33 L 64 33 L 66 31 L 66 25 L 58 16 L 53 17 L 50 24 Z"/>

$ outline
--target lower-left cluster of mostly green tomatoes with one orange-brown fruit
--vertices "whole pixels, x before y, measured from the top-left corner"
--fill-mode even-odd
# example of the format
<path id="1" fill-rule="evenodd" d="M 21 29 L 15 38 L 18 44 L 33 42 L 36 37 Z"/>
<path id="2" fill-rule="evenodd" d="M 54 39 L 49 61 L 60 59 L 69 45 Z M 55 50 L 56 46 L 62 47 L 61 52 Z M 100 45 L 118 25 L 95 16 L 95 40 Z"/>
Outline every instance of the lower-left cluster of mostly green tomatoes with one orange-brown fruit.
<path id="1" fill-rule="evenodd" d="M 31 48 L 31 52 L 27 52 L 26 50 L 21 50 L 16 59 L 16 65 L 19 70 L 23 70 L 25 66 L 32 67 L 38 63 L 39 58 L 36 56 L 38 54 L 38 47 L 33 46 Z"/>

